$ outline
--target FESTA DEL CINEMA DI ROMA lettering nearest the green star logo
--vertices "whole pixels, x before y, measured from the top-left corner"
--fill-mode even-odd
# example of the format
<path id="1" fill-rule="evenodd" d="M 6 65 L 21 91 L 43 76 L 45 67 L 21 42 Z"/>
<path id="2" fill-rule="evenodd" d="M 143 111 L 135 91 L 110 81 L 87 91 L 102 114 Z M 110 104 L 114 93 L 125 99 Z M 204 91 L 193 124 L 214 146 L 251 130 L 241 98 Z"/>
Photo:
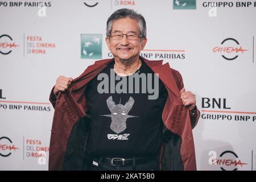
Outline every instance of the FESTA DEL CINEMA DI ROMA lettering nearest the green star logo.
<path id="1" fill-rule="evenodd" d="M 45 55 L 49 49 L 54 49 L 55 43 L 44 42 L 42 36 L 25 36 L 27 54 L 31 55 Z"/>

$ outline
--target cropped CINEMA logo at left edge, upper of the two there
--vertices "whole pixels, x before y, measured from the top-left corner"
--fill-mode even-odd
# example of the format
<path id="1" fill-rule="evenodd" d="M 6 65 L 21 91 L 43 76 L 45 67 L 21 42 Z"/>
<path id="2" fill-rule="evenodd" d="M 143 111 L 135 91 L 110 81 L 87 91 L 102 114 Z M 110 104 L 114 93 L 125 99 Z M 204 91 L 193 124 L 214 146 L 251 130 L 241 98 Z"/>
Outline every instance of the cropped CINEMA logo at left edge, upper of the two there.
<path id="1" fill-rule="evenodd" d="M 9 55 L 18 46 L 10 35 L 0 35 L 0 53 L 2 55 Z"/>

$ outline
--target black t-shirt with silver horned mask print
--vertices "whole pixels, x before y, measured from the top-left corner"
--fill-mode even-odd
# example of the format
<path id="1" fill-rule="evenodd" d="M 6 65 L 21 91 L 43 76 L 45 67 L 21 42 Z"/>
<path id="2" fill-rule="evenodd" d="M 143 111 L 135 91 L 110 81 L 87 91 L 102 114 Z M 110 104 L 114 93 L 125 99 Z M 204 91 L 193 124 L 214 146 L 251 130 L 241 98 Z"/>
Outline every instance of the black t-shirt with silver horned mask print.
<path id="1" fill-rule="evenodd" d="M 131 76 L 116 75 L 113 67 L 114 62 L 94 77 L 85 89 L 88 113 L 92 118 L 92 131 L 88 143 L 90 152 L 112 157 L 157 154 L 161 142 L 162 112 L 168 96 L 163 82 L 144 61 L 141 68 L 131 75 L 137 78 L 146 77 L 146 80 L 141 78 L 139 82 L 135 82 L 135 78 L 131 82 L 129 80 Z M 111 80 L 113 81 L 112 90 L 110 89 Z M 124 80 L 126 83 L 123 82 Z M 109 85 L 102 86 L 103 82 Z M 122 86 L 120 86 L 121 83 Z M 136 90 L 138 84 L 139 93 Z M 114 93 L 113 85 L 115 85 Z M 155 85 L 158 85 L 158 88 Z M 122 93 L 118 88 L 123 89 Z M 154 100 L 148 99 L 148 96 L 157 95 L 156 91 L 152 92 L 150 88 L 159 89 L 158 97 Z M 104 93 L 102 89 L 105 89 Z"/>

